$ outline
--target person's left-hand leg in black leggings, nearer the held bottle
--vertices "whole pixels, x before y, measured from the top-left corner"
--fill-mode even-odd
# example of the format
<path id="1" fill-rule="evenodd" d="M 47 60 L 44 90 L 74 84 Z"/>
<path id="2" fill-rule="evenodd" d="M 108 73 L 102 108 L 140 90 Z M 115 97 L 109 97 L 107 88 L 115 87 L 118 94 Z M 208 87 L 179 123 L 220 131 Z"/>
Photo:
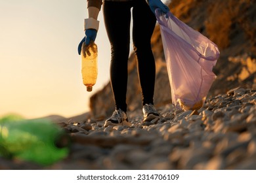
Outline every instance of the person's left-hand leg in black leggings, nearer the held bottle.
<path id="1" fill-rule="evenodd" d="M 129 2 L 104 1 L 104 23 L 111 46 L 110 83 L 116 109 L 127 110 L 131 6 Z"/>

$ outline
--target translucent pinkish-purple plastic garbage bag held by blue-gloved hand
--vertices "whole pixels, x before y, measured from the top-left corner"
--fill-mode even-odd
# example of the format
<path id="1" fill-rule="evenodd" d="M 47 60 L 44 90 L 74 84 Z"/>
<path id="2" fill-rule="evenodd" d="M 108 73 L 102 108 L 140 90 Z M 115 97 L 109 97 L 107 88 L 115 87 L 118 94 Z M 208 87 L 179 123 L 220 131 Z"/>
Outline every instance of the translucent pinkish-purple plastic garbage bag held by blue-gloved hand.
<path id="1" fill-rule="evenodd" d="M 216 78 L 213 73 L 219 49 L 171 12 L 156 10 L 173 104 L 178 109 L 198 110 Z"/>

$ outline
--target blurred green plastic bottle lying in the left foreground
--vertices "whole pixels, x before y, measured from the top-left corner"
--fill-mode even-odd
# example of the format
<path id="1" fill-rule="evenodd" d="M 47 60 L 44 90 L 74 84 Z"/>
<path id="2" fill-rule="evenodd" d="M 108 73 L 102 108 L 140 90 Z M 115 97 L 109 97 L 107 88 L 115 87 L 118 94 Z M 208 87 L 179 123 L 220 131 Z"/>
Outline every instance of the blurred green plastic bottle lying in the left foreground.
<path id="1" fill-rule="evenodd" d="M 50 120 L 0 118 L 0 156 L 51 165 L 66 158 L 70 138 Z"/>

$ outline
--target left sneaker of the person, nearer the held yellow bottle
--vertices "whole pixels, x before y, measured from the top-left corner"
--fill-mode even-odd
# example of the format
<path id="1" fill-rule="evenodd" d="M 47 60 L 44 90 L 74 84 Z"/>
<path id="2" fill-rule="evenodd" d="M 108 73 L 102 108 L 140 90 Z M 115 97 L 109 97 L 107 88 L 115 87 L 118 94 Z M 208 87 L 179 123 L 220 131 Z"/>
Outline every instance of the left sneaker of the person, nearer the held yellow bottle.
<path id="1" fill-rule="evenodd" d="M 131 126 L 131 123 L 128 122 L 128 118 L 123 110 L 115 110 L 110 118 L 106 120 L 104 127 L 109 125 L 128 125 Z"/>

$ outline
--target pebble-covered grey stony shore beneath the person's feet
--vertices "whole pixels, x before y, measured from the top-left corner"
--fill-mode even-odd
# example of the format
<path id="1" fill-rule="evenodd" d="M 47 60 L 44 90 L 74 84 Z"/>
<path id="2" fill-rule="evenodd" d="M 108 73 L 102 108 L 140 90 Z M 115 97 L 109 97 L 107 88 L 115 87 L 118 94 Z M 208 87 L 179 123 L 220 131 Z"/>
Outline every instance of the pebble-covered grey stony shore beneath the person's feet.
<path id="1" fill-rule="evenodd" d="M 129 112 L 131 127 L 60 124 L 73 137 L 70 156 L 47 169 L 256 169 L 255 101 L 255 90 L 234 88 L 198 111 L 161 106 L 152 122 Z"/>

